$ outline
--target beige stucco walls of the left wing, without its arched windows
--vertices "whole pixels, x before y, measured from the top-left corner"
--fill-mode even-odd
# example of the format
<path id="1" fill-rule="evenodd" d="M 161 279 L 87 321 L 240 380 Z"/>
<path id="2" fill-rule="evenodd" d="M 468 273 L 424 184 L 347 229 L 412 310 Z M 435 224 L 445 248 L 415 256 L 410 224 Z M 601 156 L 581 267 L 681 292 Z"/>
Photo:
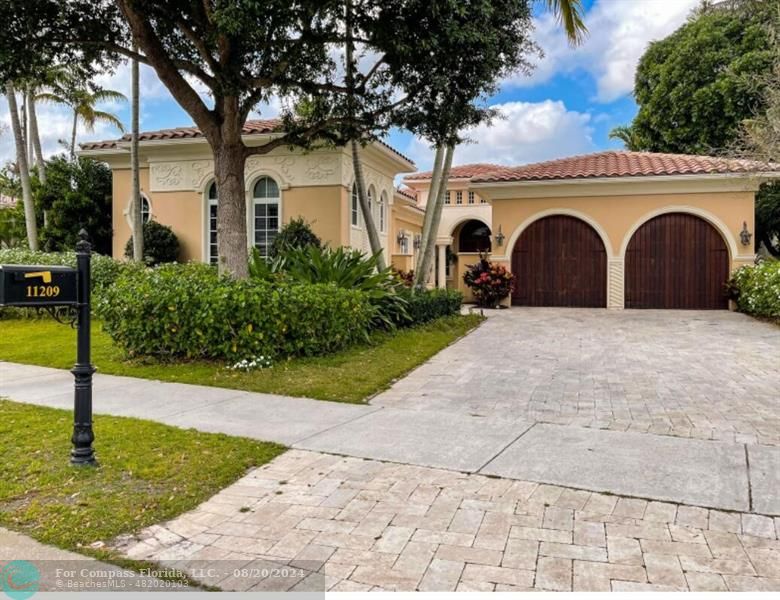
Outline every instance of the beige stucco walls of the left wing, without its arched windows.
<path id="1" fill-rule="evenodd" d="M 248 145 L 259 145 L 268 136 L 246 136 Z M 107 162 L 113 172 L 113 254 L 124 256 L 130 239 L 130 168 L 129 145 L 117 143 L 109 149 L 81 152 Z M 361 152 L 364 176 L 372 202 L 372 213 L 380 230 L 380 241 L 386 256 L 398 251 L 397 231 L 414 228 L 419 209 L 398 199 L 394 178 L 414 168 L 413 163 L 384 144 L 375 143 Z M 187 140 L 152 140 L 140 145 L 140 184 L 155 221 L 170 226 L 181 244 L 181 261 L 208 260 L 209 203 L 208 192 L 214 181 L 214 163 L 209 147 L 202 138 Z M 368 252 L 370 245 L 364 219 L 358 210 L 353 220 L 352 186 L 354 170 L 347 149 L 329 148 L 310 152 L 277 148 L 266 155 L 252 156 L 244 171 L 247 200 L 247 245 L 253 232 L 253 191 L 262 177 L 278 186 L 280 226 L 303 217 L 314 232 L 331 246 L 351 246 Z M 384 203 L 384 208 L 382 208 Z M 396 204 L 398 203 L 398 206 Z M 412 203 L 413 204 L 413 203 Z M 384 218 L 381 211 L 384 211 Z M 411 211 L 411 212 L 410 212 Z M 411 242 L 410 242 L 411 243 Z"/>

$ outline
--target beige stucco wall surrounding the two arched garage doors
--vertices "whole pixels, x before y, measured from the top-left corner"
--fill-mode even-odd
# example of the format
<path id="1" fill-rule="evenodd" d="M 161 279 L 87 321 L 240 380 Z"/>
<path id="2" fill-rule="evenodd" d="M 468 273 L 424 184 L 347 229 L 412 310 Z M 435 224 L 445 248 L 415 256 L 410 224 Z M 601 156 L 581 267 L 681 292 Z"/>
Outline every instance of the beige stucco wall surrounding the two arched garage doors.
<path id="1" fill-rule="evenodd" d="M 407 178 L 421 205 L 426 204 L 429 181 Z M 522 232 L 535 221 L 552 215 L 569 215 L 588 223 L 601 237 L 607 253 L 607 306 L 624 307 L 624 263 L 629 241 L 648 220 L 665 213 L 688 213 L 707 221 L 723 238 L 731 269 L 755 260 L 753 243 L 743 244 L 743 228 L 753 232 L 755 192 L 761 181 L 745 175 L 685 175 L 624 178 L 592 178 L 568 181 L 472 183 L 452 179 L 437 233 L 437 244 L 451 249 L 452 262 L 438 285 L 460 289 L 468 265 L 479 259 L 475 252 L 462 252 L 459 232 L 465 222 L 476 220 L 489 226 L 491 260 L 512 268 L 512 251 Z M 463 202 L 455 195 L 463 191 Z M 468 204 L 467 193 L 474 193 Z M 481 202 L 484 199 L 485 203 Z M 499 235 L 500 234 L 500 235 Z M 502 237 L 502 243 L 498 238 Z M 441 269 L 440 269 L 441 271 Z M 507 303 L 509 300 L 507 299 Z"/>

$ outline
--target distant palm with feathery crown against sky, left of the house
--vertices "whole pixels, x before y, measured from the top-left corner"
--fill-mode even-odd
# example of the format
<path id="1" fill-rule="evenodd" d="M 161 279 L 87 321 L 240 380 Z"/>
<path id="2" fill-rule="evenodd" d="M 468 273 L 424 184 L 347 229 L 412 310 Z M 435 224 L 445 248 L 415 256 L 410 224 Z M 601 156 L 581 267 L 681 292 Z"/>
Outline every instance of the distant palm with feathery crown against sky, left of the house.
<path id="1" fill-rule="evenodd" d="M 38 94 L 38 100 L 67 106 L 73 111 L 73 130 L 70 137 L 70 158 L 76 158 L 76 133 L 79 121 L 87 131 L 94 131 L 98 123 L 108 123 L 124 133 L 125 127 L 116 115 L 95 108 L 100 102 L 127 101 L 127 97 L 115 90 L 90 91 L 83 85 L 74 85 L 73 80 L 64 85 L 51 86 L 50 92 Z"/>

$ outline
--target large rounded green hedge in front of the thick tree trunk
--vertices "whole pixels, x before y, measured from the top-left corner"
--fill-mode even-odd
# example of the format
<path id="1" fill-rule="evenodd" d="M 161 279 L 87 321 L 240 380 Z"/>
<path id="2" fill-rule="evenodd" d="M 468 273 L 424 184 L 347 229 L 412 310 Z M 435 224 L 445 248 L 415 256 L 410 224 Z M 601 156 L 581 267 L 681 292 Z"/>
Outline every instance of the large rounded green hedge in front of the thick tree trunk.
<path id="1" fill-rule="evenodd" d="M 106 332 L 131 356 L 311 356 L 366 340 L 374 309 L 359 290 L 234 280 L 209 265 L 120 276 L 101 297 Z"/>

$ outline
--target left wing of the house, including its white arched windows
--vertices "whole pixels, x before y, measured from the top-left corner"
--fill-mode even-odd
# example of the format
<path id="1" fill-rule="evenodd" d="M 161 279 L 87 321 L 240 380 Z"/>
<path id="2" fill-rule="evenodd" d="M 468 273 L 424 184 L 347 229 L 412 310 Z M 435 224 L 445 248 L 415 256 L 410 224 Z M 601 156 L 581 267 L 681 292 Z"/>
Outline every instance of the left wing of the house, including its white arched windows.
<path id="1" fill-rule="evenodd" d="M 278 135 L 277 120 L 247 121 L 244 142 L 260 145 Z M 141 133 L 140 179 L 145 220 L 169 225 L 181 243 L 180 260 L 217 260 L 217 196 L 214 161 L 195 127 Z M 113 255 L 130 239 L 130 138 L 81 145 L 81 156 L 105 161 L 113 173 Z M 361 152 L 369 201 L 389 261 L 413 264 L 414 236 L 423 212 L 396 190 L 394 177 L 414 163 L 375 142 Z M 352 157 L 346 148 L 310 152 L 277 148 L 246 161 L 247 245 L 268 251 L 287 221 L 303 217 L 323 242 L 369 252 L 363 215 L 354 191 Z"/>

